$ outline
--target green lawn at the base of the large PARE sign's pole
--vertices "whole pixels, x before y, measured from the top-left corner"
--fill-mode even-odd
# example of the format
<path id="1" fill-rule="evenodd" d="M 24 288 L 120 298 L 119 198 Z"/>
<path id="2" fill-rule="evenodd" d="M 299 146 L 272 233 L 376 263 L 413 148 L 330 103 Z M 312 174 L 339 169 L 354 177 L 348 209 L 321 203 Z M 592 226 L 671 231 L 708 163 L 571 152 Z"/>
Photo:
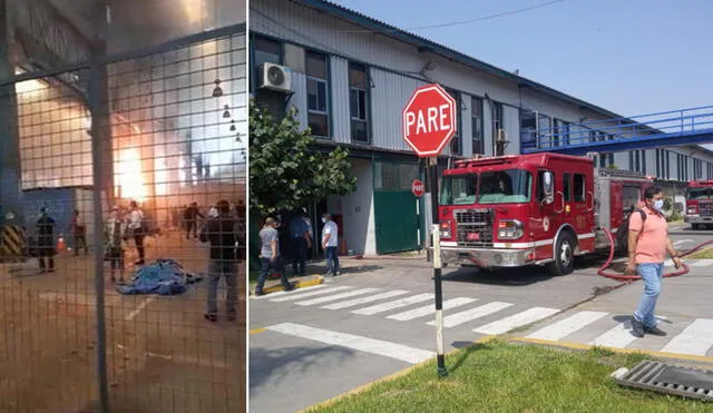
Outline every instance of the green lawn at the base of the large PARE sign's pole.
<path id="1" fill-rule="evenodd" d="M 433 361 L 309 412 L 713 412 L 713 403 L 628 390 L 609 377 L 644 357 L 492 341 L 448 356 L 445 378 Z"/>

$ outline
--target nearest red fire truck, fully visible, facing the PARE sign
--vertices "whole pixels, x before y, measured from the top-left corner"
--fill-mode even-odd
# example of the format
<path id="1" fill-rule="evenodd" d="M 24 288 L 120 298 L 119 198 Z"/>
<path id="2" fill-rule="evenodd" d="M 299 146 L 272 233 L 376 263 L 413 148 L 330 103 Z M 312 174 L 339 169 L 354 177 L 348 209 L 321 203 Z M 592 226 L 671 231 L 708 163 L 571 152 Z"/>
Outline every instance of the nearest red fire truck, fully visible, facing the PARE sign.
<path id="1" fill-rule="evenodd" d="M 440 185 L 441 260 L 488 269 L 548 265 L 569 274 L 576 256 L 609 250 L 602 228 L 615 234 L 649 185 L 643 174 L 597 169 L 589 156 L 458 160 Z"/>

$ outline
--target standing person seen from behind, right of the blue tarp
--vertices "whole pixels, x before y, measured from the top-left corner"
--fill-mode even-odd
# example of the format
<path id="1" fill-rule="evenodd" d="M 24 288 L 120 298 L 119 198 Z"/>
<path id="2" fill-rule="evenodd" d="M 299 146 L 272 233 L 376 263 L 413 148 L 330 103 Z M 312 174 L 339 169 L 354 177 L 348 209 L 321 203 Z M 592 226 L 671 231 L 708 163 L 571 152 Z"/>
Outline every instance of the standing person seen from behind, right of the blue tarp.
<path id="1" fill-rule="evenodd" d="M 225 312 L 227 321 L 236 319 L 237 304 L 237 220 L 231 217 L 227 200 L 216 206 L 217 216 L 208 219 L 201 229 L 201 242 L 211 243 L 208 263 L 208 299 L 205 318 L 209 322 L 218 319 L 217 291 L 221 278 L 225 279 Z"/>

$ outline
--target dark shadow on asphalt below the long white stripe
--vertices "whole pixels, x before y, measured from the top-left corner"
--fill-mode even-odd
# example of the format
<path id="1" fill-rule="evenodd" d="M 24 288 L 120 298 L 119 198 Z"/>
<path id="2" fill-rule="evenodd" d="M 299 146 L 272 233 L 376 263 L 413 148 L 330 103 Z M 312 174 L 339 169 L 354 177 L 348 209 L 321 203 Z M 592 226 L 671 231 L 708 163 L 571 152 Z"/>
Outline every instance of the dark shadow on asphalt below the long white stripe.
<path id="1" fill-rule="evenodd" d="M 335 358 L 344 360 L 354 351 L 342 346 L 284 347 L 265 350 L 250 347 L 250 389 L 258 389 L 282 380 L 306 376 L 307 370 L 333 368 Z M 293 375 L 293 377 L 289 377 Z"/>

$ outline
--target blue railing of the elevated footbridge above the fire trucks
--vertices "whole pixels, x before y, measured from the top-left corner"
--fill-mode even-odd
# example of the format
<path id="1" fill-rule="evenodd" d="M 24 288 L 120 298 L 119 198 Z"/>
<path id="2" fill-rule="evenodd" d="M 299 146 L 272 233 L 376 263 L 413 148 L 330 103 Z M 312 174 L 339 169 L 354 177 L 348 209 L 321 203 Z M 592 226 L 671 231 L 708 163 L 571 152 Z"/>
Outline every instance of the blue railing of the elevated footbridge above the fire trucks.
<path id="1" fill-rule="evenodd" d="M 713 106 L 663 111 L 631 118 L 569 124 L 566 128 L 530 128 L 521 132 L 524 153 L 563 150 L 577 146 L 632 138 L 665 138 L 713 132 Z M 637 139 L 638 140 L 638 139 Z"/>

